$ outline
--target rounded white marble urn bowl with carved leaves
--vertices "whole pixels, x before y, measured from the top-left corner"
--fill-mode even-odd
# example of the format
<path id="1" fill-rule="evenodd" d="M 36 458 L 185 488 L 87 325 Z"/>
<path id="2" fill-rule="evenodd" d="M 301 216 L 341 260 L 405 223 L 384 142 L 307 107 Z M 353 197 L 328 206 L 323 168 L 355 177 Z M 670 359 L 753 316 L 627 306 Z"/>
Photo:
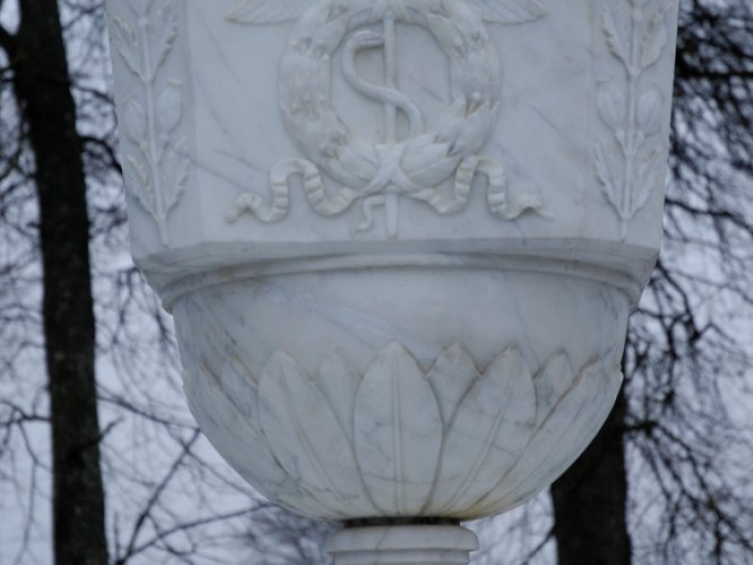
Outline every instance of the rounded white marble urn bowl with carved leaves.
<path id="1" fill-rule="evenodd" d="M 429 256 L 297 269 L 225 272 L 173 312 L 203 432 L 299 513 L 496 514 L 562 473 L 614 403 L 630 296 L 595 269 Z"/>

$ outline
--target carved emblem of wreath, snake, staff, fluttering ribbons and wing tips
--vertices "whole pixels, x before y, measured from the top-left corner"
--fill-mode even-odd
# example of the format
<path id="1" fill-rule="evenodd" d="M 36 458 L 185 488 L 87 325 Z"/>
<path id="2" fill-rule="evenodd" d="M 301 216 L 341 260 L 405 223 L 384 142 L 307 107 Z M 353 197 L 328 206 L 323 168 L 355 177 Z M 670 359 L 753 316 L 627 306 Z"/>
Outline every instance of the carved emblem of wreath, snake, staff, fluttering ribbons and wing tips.
<path id="1" fill-rule="evenodd" d="M 535 189 L 525 187 L 519 196 L 508 194 L 504 169 L 479 155 L 499 111 L 501 80 L 496 48 L 482 20 L 522 23 L 546 13 L 535 0 L 468 0 L 468 4 L 466 0 L 317 0 L 305 9 L 295 0 L 239 4 L 227 14 L 228 20 L 251 24 L 297 20 L 280 63 L 279 93 L 283 122 L 306 158 L 278 163 L 270 173 L 271 198 L 243 193 L 227 211 L 226 220 L 235 222 L 251 212 L 262 222 L 281 221 L 288 213 L 290 177 L 300 176 L 317 214 L 342 214 L 358 201 L 363 216 L 355 231 L 367 231 L 374 226 L 375 209 L 383 208 L 387 235 L 394 238 L 400 198 L 426 203 L 440 215 L 456 214 L 468 204 L 476 174 L 488 178 L 487 203 L 494 216 L 514 220 L 531 210 L 546 217 Z M 427 29 L 450 62 L 453 101 L 428 129 L 421 109 L 398 88 L 398 23 Z M 359 29 L 378 24 L 380 32 Z M 351 132 L 331 104 L 331 66 L 341 46 L 346 83 L 384 106 L 385 133 L 380 142 Z M 383 85 L 363 80 L 354 63 L 358 53 L 377 48 L 384 52 Z M 405 139 L 397 133 L 399 114 L 409 125 Z M 340 185 L 331 196 L 323 173 Z M 440 190 L 445 182 L 449 191 Z"/>

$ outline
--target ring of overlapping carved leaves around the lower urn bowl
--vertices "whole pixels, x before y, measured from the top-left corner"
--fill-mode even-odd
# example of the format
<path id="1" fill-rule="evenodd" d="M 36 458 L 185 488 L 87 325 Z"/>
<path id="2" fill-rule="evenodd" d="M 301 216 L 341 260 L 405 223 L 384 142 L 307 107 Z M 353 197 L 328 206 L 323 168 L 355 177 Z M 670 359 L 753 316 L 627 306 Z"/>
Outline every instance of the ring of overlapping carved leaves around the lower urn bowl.
<path id="1" fill-rule="evenodd" d="M 393 343 L 363 373 L 333 349 L 313 374 L 278 351 L 258 380 L 233 356 L 221 374 L 200 366 L 184 379 L 202 430 L 239 473 L 337 519 L 520 504 L 585 449 L 621 373 L 601 360 L 573 371 L 559 353 L 534 375 L 516 347 L 479 371 L 457 344 L 425 371 Z"/>

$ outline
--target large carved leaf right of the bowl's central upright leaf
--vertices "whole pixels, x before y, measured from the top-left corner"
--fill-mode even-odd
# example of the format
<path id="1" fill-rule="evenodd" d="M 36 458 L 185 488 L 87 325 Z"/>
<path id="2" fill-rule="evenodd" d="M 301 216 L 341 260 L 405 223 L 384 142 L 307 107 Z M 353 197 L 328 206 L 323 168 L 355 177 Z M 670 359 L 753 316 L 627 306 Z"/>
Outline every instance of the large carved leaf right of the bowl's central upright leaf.
<path id="1" fill-rule="evenodd" d="M 472 506 L 521 457 L 536 423 L 536 395 L 520 351 L 495 359 L 463 398 L 445 441 L 431 512 Z"/>

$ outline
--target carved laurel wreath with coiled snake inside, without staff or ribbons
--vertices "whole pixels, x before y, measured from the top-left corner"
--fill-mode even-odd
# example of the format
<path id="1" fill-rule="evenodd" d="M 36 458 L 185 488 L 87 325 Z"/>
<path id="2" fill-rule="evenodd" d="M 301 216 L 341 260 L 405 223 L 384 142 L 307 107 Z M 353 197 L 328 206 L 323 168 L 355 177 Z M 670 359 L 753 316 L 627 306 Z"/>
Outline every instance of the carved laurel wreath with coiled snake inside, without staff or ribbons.
<path id="1" fill-rule="evenodd" d="M 453 103 L 424 133 L 421 111 L 397 90 L 367 85 L 355 73 L 359 50 L 384 41 L 352 28 L 378 23 L 373 2 L 319 3 L 307 11 L 290 35 L 280 67 L 280 101 L 288 131 L 303 152 L 343 188 L 334 198 L 323 192 L 315 207 L 336 214 L 356 198 L 379 193 L 394 183 L 405 195 L 425 200 L 440 211 L 458 204 L 434 198 L 434 187 L 452 175 L 466 158 L 486 143 L 494 126 L 500 90 L 496 50 L 481 18 L 462 2 L 406 0 L 396 21 L 427 28 L 447 55 L 452 73 Z M 364 95 L 389 100 L 408 118 L 410 134 L 394 144 L 372 143 L 354 135 L 330 101 L 331 55 L 343 46 L 343 73 Z M 311 72 L 316 69 L 316 72 Z"/>

